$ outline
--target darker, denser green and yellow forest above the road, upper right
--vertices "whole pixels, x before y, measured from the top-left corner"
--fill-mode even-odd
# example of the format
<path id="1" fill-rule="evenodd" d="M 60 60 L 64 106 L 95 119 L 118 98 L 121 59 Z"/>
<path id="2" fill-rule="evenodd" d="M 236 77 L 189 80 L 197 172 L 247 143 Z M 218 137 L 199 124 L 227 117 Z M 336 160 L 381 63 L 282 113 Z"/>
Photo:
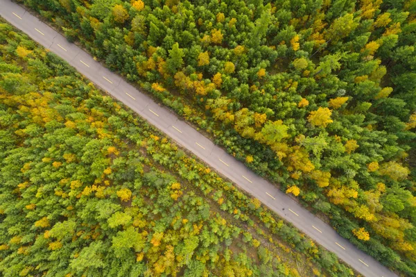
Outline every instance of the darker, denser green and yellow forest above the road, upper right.
<path id="1" fill-rule="evenodd" d="M 416 274 L 416 1 L 18 1 Z"/>

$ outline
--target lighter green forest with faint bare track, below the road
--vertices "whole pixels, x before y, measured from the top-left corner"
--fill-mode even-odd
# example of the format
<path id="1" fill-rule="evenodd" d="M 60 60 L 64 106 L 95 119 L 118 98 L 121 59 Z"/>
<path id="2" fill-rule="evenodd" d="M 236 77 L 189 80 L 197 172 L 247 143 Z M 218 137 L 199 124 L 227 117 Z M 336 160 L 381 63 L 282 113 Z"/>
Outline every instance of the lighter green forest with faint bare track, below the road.
<path id="1" fill-rule="evenodd" d="M 354 276 L 0 19 L 0 274 Z"/>

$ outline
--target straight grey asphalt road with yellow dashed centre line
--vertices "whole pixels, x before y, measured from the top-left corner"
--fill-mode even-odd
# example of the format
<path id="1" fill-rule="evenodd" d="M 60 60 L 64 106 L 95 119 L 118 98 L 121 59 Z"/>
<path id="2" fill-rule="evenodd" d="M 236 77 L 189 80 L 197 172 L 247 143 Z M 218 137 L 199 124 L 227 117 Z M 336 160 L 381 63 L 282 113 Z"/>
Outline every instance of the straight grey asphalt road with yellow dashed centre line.
<path id="1" fill-rule="evenodd" d="M 397 276 L 370 255 L 358 250 L 356 246 L 338 235 L 331 226 L 315 217 L 277 187 L 257 176 L 243 163 L 214 145 L 173 112 L 159 106 L 149 96 L 123 81 L 117 74 L 110 72 L 109 69 L 96 62 L 89 53 L 69 43 L 60 33 L 40 22 L 37 17 L 26 12 L 21 6 L 10 0 L 0 0 L 0 15 L 46 49 L 50 49 L 69 62 L 78 72 L 125 103 L 178 144 L 192 151 L 220 174 L 259 199 L 270 210 L 277 212 L 287 221 L 291 221 L 315 242 L 336 253 L 356 271 L 369 277 Z"/>

